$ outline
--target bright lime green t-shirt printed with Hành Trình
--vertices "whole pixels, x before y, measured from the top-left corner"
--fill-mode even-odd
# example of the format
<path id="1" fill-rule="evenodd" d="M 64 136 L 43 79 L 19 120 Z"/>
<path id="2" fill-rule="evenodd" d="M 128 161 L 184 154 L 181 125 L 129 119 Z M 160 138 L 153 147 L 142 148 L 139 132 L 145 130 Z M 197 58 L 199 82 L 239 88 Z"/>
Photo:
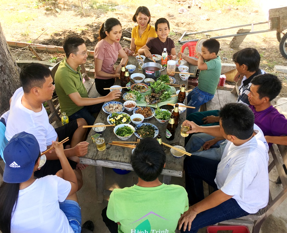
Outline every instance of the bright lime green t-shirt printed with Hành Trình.
<path id="1" fill-rule="evenodd" d="M 182 186 L 134 185 L 112 191 L 107 217 L 120 222 L 119 233 L 174 233 L 181 214 L 187 210 L 187 193 Z"/>

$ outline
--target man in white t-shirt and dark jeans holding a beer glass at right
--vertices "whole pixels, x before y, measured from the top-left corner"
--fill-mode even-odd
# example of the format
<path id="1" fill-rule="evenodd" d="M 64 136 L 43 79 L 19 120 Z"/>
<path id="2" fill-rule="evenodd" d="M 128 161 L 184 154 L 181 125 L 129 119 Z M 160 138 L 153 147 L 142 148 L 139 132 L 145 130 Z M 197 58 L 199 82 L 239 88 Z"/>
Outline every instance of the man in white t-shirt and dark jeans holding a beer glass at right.
<path id="1" fill-rule="evenodd" d="M 202 127 L 184 121 L 188 133 L 224 137 L 228 143 L 220 161 L 193 155 L 184 160 L 189 210 L 179 219 L 182 232 L 220 221 L 254 214 L 268 204 L 268 144 L 254 124 L 252 110 L 241 103 L 228 103 L 219 113 L 220 125 Z M 204 198 L 203 183 L 215 191 Z"/>

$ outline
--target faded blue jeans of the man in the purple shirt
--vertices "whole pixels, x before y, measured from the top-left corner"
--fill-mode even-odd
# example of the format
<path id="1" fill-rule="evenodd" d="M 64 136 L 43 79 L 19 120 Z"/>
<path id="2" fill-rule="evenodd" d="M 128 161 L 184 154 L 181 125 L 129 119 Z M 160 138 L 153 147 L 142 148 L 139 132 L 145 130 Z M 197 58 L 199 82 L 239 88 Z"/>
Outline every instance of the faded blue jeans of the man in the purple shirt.
<path id="1" fill-rule="evenodd" d="M 221 140 L 210 147 L 208 150 L 198 151 L 206 141 L 214 139 L 206 133 L 195 133 L 193 134 L 185 146 L 185 150 L 190 152 L 192 155 L 205 157 L 212 160 L 220 161 L 224 148 L 227 144 L 227 140 Z"/>

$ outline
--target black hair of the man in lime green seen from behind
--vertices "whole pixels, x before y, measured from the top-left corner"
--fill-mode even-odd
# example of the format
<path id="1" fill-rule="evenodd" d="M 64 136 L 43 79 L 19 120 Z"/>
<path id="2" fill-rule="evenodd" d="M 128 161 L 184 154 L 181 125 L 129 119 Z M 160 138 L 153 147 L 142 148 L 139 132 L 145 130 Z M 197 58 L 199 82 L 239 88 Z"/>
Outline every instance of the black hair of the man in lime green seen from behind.
<path id="1" fill-rule="evenodd" d="M 162 172 L 166 162 L 166 154 L 162 146 L 154 138 L 142 139 L 137 144 L 132 157 L 132 168 L 142 180 L 154 181 Z"/>

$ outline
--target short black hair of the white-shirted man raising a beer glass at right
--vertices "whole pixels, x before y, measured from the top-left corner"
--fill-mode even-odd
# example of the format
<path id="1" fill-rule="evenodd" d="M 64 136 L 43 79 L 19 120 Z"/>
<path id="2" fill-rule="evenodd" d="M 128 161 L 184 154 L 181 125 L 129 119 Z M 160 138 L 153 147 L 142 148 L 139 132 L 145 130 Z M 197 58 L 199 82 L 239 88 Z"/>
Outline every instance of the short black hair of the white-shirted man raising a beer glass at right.
<path id="1" fill-rule="evenodd" d="M 220 109 L 219 117 L 226 134 L 241 140 L 252 136 L 254 113 L 246 104 L 227 103 Z"/>

